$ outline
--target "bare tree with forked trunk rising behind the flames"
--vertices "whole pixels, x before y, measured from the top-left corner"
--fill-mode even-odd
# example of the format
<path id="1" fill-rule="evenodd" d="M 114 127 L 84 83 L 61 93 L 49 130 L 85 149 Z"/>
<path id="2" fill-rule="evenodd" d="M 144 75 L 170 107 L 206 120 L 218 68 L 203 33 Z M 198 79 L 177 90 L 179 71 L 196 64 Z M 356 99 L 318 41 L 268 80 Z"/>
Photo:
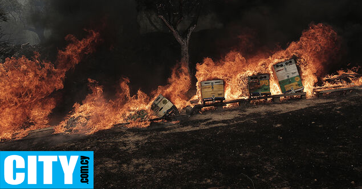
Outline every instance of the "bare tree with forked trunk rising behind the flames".
<path id="1" fill-rule="evenodd" d="M 138 0 L 154 10 L 181 46 L 181 63 L 189 64 L 190 37 L 197 26 L 202 0 Z M 152 24 L 152 23 L 151 23 Z"/>

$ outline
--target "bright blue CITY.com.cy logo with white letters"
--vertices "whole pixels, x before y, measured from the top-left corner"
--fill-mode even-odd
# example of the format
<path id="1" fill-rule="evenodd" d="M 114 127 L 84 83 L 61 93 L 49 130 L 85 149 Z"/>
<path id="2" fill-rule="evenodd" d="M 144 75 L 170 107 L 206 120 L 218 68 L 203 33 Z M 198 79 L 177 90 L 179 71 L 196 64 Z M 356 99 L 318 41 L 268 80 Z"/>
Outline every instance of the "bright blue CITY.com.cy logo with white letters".
<path id="1" fill-rule="evenodd" d="M 93 151 L 0 151 L 2 188 L 93 188 Z"/>

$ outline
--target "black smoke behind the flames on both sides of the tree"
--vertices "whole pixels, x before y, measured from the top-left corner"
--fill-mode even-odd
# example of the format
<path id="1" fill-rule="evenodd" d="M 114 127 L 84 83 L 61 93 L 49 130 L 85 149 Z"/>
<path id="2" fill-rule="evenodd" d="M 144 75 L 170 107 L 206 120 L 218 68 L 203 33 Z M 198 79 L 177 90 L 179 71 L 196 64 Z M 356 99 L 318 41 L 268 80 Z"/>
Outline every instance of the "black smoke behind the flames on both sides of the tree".
<path id="1" fill-rule="evenodd" d="M 83 29 L 101 31 L 104 40 L 96 53 L 68 74 L 64 90 L 59 92 L 63 96 L 60 102 L 66 105 L 58 107 L 58 112 L 69 111 L 75 101 L 84 98 L 87 78 L 104 85 L 109 98 L 123 76 L 130 78 L 134 91 L 142 88 L 149 92 L 165 84 L 170 69 L 180 59 L 178 43 L 164 26 L 161 30 L 144 30 L 145 23 L 140 22 L 145 20 L 140 19 L 141 9 L 134 0 L 49 2 L 43 16 L 36 19 L 51 31 L 43 43 L 49 51 L 64 47 L 67 34 L 84 36 Z M 248 57 L 285 48 L 312 22 L 327 23 L 341 36 L 341 56 L 334 60 L 340 64 L 332 66 L 331 72 L 348 63 L 359 65 L 361 10 L 361 0 L 208 1 L 199 20 L 202 27 L 191 37 L 191 65 L 204 57 L 217 60 L 230 50 Z"/>

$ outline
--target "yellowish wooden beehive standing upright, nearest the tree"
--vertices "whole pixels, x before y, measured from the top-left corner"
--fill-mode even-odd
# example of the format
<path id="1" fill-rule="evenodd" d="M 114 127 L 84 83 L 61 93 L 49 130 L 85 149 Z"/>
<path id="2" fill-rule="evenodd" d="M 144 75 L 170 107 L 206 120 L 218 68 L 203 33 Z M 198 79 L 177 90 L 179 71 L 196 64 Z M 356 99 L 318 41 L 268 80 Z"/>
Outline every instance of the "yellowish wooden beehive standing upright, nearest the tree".
<path id="1" fill-rule="evenodd" d="M 202 81 L 201 100 L 203 103 L 207 101 L 225 100 L 224 81 L 223 80 Z"/>

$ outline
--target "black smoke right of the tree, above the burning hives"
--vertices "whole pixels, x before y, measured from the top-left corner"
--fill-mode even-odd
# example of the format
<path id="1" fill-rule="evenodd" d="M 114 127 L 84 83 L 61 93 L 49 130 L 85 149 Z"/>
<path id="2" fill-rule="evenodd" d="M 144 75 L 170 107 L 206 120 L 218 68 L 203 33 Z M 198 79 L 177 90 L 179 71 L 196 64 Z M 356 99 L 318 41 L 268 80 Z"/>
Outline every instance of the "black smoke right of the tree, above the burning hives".
<path id="1" fill-rule="evenodd" d="M 258 51 L 286 48 L 290 42 L 299 39 L 310 23 L 326 23 L 341 36 L 340 64 L 360 64 L 361 9 L 362 2 L 358 0 L 226 1 L 212 7 L 223 28 L 214 36 L 207 32 L 212 43 L 206 46 L 217 49 L 222 55 L 233 48 L 245 56 L 252 56 Z M 222 57 L 219 53 L 207 56 L 218 59 Z M 199 59 L 202 57 L 197 61 Z M 331 68 L 331 71 L 335 69 L 338 68 Z"/>

